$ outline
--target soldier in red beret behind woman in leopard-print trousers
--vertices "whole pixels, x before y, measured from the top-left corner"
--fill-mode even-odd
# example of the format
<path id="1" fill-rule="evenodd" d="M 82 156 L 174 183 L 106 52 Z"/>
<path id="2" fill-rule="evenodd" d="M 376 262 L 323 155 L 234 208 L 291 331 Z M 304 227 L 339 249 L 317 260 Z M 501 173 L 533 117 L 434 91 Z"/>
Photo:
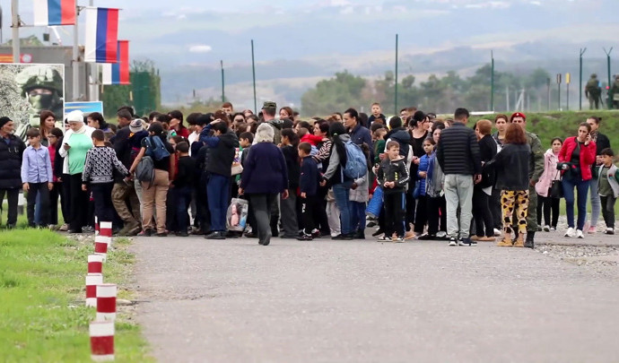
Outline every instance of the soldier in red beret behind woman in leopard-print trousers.
<path id="1" fill-rule="evenodd" d="M 535 246 L 535 236 L 537 231 L 537 192 L 536 183 L 544 172 L 544 150 L 542 143 L 536 134 L 527 131 L 527 117 L 521 112 L 516 112 L 510 117 L 510 123 L 518 124 L 527 136 L 528 146 L 531 148 L 531 155 L 528 160 L 528 213 L 527 213 L 527 239 L 525 247 Z M 514 211 L 516 208 L 514 207 Z M 516 230 L 516 229 L 514 229 Z"/>

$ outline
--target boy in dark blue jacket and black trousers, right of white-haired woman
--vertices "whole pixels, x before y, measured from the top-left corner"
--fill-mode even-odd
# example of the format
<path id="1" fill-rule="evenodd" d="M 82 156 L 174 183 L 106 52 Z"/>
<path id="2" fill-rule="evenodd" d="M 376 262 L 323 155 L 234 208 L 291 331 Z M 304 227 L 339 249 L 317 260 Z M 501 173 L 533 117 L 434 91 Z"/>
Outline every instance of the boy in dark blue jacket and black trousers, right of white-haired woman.
<path id="1" fill-rule="evenodd" d="M 316 193 L 321 177 L 318 173 L 318 164 L 310 156 L 310 153 L 310 143 L 299 144 L 299 157 L 301 158 L 299 187 L 301 189 L 301 220 L 303 221 L 303 233 L 297 238 L 300 241 L 310 241 L 316 235 L 313 215 L 314 208 L 318 205 Z"/>

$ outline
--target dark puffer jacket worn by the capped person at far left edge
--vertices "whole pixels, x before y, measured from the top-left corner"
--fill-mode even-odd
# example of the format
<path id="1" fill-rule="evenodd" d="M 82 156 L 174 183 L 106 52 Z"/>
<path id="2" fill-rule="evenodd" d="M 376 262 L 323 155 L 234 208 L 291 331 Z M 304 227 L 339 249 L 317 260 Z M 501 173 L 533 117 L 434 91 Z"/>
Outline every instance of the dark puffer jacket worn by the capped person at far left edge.
<path id="1" fill-rule="evenodd" d="M 8 143 L 6 143 L 7 140 Z M 14 134 L 10 134 L 8 138 L 0 137 L 0 189 L 22 187 L 24 150 L 26 150 L 26 144 Z"/>

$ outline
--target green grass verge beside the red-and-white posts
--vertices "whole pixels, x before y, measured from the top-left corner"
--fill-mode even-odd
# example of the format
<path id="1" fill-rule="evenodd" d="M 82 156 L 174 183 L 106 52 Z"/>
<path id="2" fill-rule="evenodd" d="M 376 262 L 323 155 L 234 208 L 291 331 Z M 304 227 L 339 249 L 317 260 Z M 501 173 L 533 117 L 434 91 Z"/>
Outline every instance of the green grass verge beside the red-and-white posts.
<path id="1" fill-rule="evenodd" d="M 115 250 L 103 266 L 104 281 L 126 290 L 134 256 L 127 239 L 114 241 Z M 38 229 L 0 231 L 0 361 L 88 362 L 88 325 L 95 310 L 84 307 L 84 277 L 92 243 L 67 239 Z M 153 361 L 139 326 L 118 309 L 116 360 Z"/>

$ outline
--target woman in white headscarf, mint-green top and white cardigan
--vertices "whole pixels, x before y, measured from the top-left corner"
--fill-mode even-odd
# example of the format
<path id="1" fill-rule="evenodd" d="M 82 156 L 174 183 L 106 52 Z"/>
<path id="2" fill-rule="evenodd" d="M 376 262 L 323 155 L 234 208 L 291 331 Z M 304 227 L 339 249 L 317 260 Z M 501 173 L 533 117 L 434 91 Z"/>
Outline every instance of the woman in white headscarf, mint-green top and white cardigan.
<path id="1" fill-rule="evenodd" d="M 69 188 L 69 233 L 82 233 L 88 223 L 88 193 L 82 191 L 82 172 L 86 162 L 86 152 L 92 148 L 92 131 L 95 129 L 84 125 L 82 111 L 71 111 L 66 116 L 69 129 L 65 132 L 63 145 L 59 150 L 65 158 L 63 175 L 68 175 Z"/>

